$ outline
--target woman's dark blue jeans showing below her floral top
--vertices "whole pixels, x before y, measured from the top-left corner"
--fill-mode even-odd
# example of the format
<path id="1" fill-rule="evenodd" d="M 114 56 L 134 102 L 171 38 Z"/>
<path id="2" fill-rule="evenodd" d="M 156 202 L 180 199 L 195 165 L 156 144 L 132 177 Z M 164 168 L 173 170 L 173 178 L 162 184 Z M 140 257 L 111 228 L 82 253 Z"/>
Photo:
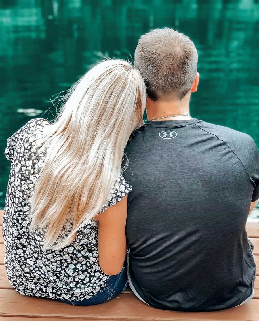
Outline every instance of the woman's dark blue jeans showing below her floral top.
<path id="1" fill-rule="evenodd" d="M 78 305 L 78 306 L 88 306 L 95 305 L 109 301 L 110 299 L 116 297 L 122 291 L 126 290 L 128 285 L 127 281 L 127 267 L 123 266 L 120 273 L 116 275 L 111 275 L 105 287 L 93 295 L 89 299 L 84 299 L 82 301 L 70 301 L 70 300 L 59 300 L 61 302 Z"/>

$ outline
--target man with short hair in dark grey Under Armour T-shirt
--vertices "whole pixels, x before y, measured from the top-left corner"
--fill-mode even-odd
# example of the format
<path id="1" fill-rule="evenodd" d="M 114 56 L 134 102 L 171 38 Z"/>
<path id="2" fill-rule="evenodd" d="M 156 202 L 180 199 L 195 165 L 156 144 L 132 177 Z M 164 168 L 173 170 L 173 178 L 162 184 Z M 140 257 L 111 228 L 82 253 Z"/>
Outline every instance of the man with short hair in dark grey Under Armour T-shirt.
<path id="1" fill-rule="evenodd" d="M 246 220 L 259 198 L 253 139 L 192 118 L 197 50 L 172 29 L 148 32 L 135 65 L 148 90 L 148 122 L 126 148 L 129 283 L 161 309 L 214 311 L 253 296 Z M 176 117 L 176 115 L 179 115 Z M 252 203 L 251 203 L 252 202 Z M 251 247 L 250 247 L 251 246 Z"/>

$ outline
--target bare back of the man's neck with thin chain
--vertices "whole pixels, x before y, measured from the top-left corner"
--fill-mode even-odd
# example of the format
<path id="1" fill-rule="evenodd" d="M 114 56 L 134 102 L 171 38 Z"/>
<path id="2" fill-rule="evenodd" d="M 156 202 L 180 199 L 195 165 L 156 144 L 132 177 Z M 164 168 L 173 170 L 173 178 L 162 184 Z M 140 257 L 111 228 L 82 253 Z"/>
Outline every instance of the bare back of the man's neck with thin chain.
<path id="1" fill-rule="evenodd" d="M 190 119 L 190 110 L 189 110 L 189 100 L 190 96 L 185 96 L 182 100 L 158 100 L 153 101 L 150 98 L 147 99 L 146 110 L 147 110 L 147 119 L 151 120 L 157 117 L 166 117 L 174 115 L 189 115 L 189 117 L 166 117 L 157 119 L 157 120 L 170 120 L 170 119 Z"/>

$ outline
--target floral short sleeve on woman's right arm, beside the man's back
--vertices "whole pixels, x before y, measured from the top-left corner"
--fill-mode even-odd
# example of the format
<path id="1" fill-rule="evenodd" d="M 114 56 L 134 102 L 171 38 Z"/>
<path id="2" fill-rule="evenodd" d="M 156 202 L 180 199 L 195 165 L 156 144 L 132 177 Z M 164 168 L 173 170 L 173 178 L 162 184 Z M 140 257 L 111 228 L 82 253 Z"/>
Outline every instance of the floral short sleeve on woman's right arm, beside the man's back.
<path id="1" fill-rule="evenodd" d="M 120 179 L 113 189 L 113 192 L 109 196 L 109 201 L 102 207 L 100 213 L 103 213 L 107 208 L 115 205 L 116 203 L 120 202 L 123 197 L 131 192 L 132 186 L 124 179 L 122 175 L 120 175 Z"/>

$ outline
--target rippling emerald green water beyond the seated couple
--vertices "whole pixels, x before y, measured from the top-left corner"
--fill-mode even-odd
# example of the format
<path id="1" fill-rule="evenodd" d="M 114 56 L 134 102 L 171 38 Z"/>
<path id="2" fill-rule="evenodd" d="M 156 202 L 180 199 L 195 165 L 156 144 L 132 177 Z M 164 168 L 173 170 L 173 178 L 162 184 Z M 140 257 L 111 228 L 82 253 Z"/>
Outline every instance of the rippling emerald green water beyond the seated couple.
<path id="1" fill-rule="evenodd" d="M 192 116 L 259 146 L 258 0 L 0 0 L 0 207 L 6 139 L 35 116 L 53 119 L 50 99 L 103 56 L 132 59 L 140 35 L 165 26 L 198 49 Z"/>

